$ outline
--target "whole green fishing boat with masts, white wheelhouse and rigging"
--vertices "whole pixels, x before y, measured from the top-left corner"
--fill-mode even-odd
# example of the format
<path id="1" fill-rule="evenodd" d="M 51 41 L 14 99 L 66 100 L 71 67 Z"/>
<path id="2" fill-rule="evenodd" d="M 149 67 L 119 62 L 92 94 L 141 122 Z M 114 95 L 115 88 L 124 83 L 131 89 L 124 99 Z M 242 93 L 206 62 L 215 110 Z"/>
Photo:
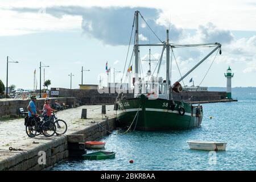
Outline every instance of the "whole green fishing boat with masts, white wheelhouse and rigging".
<path id="1" fill-rule="evenodd" d="M 219 50 L 221 54 L 221 44 L 172 44 L 169 43 L 168 30 L 166 32 L 166 42 L 161 42 L 159 44 L 139 44 L 139 15 L 141 15 L 141 13 L 139 13 L 139 11 L 135 11 L 135 40 L 134 49 L 132 52 L 132 56 L 135 56 L 135 77 L 133 78 L 134 98 L 125 98 L 123 93 L 126 92 L 125 89 L 127 88 L 123 88 L 123 85 L 121 85 L 117 100 L 115 102 L 115 110 L 117 111 L 117 126 L 129 127 L 131 130 L 172 130 L 200 127 L 203 120 L 203 107 L 201 105 L 192 105 L 190 104 L 189 100 L 174 100 L 172 93 L 181 93 L 183 91 L 183 87 L 181 86 L 180 81 L 182 81 L 189 75 L 189 73 L 203 63 L 203 61 L 212 55 L 213 52 Z M 144 20 L 142 15 L 141 17 Z M 144 21 L 148 25 L 146 20 Z M 142 77 L 141 75 L 141 56 L 139 55 L 139 47 L 141 46 L 162 47 L 162 54 L 158 60 L 158 64 L 156 65 L 156 68 L 158 68 L 155 68 L 155 71 L 152 73 L 151 59 L 149 59 L 150 69 L 148 70 L 146 77 Z M 214 49 L 184 76 L 181 76 L 180 74 L 180 79 L 174 82 L 174 84 L 171 84 L 170 63 L 172 63 L 172 59 L 175 59 L 176 61 L 174 49 L 179 47 L 213 47 Z M 159 71 L 162 65 L 163 53 L 165 51 L 166 79 L 164 80 L 162 77 L 159 77 Z M 131 64 L 132 62 L 130 61 L 129 68 L 131 67 Z M 129 69 L 127 72 L 129 72 Z M 129 74 L 127 73 L 126 77 L 127 75 Z"/>

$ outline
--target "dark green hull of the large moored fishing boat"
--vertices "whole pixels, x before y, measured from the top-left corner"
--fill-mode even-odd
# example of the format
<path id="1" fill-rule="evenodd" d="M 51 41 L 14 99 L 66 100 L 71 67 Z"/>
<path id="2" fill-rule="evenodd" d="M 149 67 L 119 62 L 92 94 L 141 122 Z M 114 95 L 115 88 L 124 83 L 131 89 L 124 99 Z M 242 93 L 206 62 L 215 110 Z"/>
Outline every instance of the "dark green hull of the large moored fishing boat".
<path id="1" fill-rule="evenodd" d="M 175 101 L 175 109 L 170 109 L 171 102 L 164 99 L 148 100 L 146 97 L 131 98 L 117 102 L 117 125 L 130 127 L 131 130 L 175 130 L 200 127 L 203 109 L 200 113 L 186 102 Z M 184 108 L 184 115 L 179 108 Z M 197 113 L 196 113 L 197 112 Z M 133 123 L 133 124 L 132 124 Z"/>

